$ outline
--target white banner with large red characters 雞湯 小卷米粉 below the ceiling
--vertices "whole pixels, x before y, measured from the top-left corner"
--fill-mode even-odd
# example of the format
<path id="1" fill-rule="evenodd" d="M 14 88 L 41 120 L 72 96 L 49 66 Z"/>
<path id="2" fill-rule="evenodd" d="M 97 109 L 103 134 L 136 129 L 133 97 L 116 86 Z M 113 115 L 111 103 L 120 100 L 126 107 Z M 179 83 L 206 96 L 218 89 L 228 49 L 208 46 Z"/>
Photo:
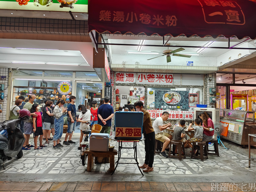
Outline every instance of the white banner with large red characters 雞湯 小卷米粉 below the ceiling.
<path id="1" fill-rule="evenodd" d="M 173 85 L 173 74 L 116 72 L 116 83 Z"/>

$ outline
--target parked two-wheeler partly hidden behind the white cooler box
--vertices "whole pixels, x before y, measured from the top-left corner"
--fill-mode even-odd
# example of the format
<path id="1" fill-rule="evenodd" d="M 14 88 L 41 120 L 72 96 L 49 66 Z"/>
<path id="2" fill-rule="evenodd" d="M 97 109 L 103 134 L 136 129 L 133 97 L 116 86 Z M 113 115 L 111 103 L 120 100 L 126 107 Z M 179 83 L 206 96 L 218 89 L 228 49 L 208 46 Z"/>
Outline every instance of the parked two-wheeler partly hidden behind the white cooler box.
<path id="1" fill-rule="evenodd" d="M 78 150 L 80 150 L 80 157 L 81 157 L 80 161 L 82 161 L 83 166 L 85 165 L 85 162 L 88 156 L 88 154 L 85 154 L 84 152 L 89 148 L 89 135 L 91 134 L 91 127 L 94 120 L 94 116 L 93 115 L 91 116 L 92 116 L 92 120 L 87 122 L 87 124 L 89 124 L 90 126 L 90 129 L 86 129 L 83 131 L 83 133 L 85 134 L 85 137 L 83 142 L 80 143 L 81 147 L 78 147 Z"/>

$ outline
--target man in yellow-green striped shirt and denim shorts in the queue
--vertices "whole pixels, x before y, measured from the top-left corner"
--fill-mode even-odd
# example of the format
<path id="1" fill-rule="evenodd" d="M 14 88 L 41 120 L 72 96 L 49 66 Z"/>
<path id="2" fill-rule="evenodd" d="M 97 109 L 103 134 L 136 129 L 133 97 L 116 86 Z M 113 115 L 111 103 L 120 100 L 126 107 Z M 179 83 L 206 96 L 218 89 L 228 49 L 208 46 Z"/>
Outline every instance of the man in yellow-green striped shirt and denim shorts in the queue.
<path id="1" fill-rule="evenodd" d="M 36 97 L 34 94 L 28 96 L 28 102 L 23 106 L 23 109 L 28 109 L 29 111 L 32 108 L 33 103 L 36 101 Z M 33 145 L 30 145 L 29 138 L 30 134 L 33 133 L 33 117 L 37 117 L 37 113 L 30 113 L 31 117 L 30 120 L 26 123 L 24 123 L 24 137 L 26 141 L 23 144 L 22 150 L 30 150 L 30 147 L 34 147 Z"/>

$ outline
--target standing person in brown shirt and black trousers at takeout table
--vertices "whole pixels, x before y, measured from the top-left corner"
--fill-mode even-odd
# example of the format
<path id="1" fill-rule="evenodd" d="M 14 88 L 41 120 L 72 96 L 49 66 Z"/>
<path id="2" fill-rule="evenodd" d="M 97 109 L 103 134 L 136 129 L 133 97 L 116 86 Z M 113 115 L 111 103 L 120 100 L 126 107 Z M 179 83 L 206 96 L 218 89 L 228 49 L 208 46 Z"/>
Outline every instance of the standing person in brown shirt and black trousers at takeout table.
<path id="1" fill-rule="evenodd" d="M 134 103 L 136 111 L 143 112 L 143 134 L 145 137 L 145 161 L 139 168 L 143 168 L 143 172 L 154 171 L 154 146 L 155 146 L 155 131 L 152 127 L 150 114 L 147 110 L 143 109 L 143 102 L 137 101 Z"/>

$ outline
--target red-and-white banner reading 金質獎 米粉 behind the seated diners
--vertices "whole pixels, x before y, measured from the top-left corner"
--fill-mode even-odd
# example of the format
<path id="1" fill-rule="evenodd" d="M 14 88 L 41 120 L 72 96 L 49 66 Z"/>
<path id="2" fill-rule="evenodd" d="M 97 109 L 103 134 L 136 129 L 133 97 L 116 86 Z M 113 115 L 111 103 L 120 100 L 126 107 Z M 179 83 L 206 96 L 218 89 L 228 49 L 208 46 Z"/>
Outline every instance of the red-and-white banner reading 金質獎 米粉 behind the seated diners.
<path id="1" fill-rule="evenodd" d="M 161 117 L 164 111 L 169 113 L 169 119 L 194 119 L 194 111 L 180 111 L 180 110 L 147 110 L 152 119 Z"/>

